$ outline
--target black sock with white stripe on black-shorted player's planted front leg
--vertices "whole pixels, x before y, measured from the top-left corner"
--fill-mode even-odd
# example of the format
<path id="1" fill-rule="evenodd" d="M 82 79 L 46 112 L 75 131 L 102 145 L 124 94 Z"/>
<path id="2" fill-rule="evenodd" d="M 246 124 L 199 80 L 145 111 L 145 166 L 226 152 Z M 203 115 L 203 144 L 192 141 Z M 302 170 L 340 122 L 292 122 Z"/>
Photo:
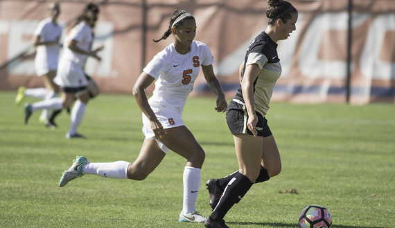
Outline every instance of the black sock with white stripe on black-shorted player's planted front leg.
<path id="1" fill-rule="evenodd" d="M 217 207 L 211 213 L 212 220 L 222 220 L 235 203 L 240 202 L 245 193 L 252 187 L 252 182 L 245 175 L 236 173 L 225 188 Z"/>

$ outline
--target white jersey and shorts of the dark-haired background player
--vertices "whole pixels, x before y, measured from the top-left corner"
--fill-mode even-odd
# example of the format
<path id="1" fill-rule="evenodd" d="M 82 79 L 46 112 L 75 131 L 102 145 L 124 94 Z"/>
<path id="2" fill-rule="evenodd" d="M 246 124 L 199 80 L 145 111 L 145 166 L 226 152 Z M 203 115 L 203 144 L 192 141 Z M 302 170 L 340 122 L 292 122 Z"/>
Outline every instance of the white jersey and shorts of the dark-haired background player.
<path id="1" fill-rule="evenodd" d="M 73 39 L 78 41 L 78 48 L 89 52 L 93 39 L 92 28 L 85 21 L 81 21 L 71 29 L 64 39 L 64 52 L 59 60 L 58 74 L 53 79 L 53 82 L 62 87 L 77 88 L 88 84 L 84 73 L 87 55 L 75 53 L 68 48 L 69 42 Z"/>

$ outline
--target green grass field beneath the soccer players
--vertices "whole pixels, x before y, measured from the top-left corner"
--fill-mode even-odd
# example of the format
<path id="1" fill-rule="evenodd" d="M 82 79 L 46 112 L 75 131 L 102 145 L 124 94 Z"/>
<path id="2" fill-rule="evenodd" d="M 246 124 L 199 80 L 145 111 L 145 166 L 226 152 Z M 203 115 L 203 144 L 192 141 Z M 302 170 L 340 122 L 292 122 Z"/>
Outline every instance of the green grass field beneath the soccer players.
<path id="1" fill-rule="evenodd" d="M 204 227 L 177 222 L 185 160 L 169 152 L 142 182 L 85 175 L 59 188 L 76 155 L 132 162 L 141 148 L 141 111 L 131 95 L 91 100 L 79 132 L 66 140 L 69 115 L 46 129 L 24 125 L 16 93 L 0 93 L 0 227 Z M 27 99 L 34 102 L 35 99 Z M 211 209 L 204 183 L 238 169 L 225 113 L 212 97 L 190 98 L 184 121 L 207 153 L 197 209 Z M 395 227 L 395 106 L 272 103 L 267 115 L 283 169 L 255 184 L 225 217 L 230 227 L 298 227 L 311 204 L 328 208 L 333 227 Z M 297 193 L 281 193 L 296 189 Z"/>

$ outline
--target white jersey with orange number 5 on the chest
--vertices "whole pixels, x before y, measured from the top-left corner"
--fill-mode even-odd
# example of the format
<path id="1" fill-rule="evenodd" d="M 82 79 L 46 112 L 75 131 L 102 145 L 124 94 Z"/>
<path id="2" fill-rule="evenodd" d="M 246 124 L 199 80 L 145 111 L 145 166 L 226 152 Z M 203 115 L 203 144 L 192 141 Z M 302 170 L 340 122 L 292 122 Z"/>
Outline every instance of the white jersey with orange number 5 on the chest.
<path id="1" fill-rule="evenodd" d="M 193 90 L 200 66 L 209 66 L 216 60 L 206 44 L 193 41 L 185 55 L 177 53 L 174 44 L 169 44 L 143 69 L 157 79 L 152 97 L 160 97 L 177 108 L 184 106 Z"/>

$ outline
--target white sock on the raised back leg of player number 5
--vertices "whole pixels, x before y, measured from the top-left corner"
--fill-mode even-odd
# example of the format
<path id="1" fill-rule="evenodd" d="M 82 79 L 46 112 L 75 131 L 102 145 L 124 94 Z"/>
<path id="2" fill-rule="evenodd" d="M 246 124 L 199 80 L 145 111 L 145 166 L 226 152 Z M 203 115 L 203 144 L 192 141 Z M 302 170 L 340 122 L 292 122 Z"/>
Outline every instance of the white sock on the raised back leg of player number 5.
<path id="1" fill-rule="evenodd" d="M 130 162 L 105 162 L 87 163 L 84 165 L 85 174 L 100 175 L 103 178 L 128 179 L 128 167 Z"/>

